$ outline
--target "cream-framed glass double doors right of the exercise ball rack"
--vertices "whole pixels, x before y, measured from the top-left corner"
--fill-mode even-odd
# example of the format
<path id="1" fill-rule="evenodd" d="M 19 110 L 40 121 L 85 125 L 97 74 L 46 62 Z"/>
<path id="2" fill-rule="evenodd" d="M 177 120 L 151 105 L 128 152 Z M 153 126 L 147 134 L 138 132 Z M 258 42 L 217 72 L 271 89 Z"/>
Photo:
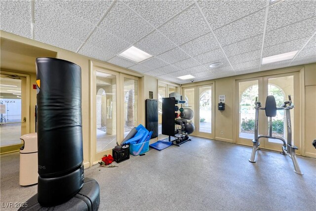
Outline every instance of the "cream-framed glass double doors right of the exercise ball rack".
<path id="1" fill-rule="evenodd" d="M 195 131 L 192 135 L 214 139 L 214 94 L 213 84 L 183 88 L 184 107 L 194 111 L 192 119 Z"/>

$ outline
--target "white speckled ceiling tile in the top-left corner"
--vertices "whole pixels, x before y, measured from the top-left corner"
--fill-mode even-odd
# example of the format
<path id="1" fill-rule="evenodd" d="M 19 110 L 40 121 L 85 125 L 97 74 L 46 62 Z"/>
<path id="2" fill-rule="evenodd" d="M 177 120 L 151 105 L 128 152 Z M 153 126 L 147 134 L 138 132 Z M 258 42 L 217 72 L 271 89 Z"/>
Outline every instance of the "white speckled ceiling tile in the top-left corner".
<path id="1" fill-rule="evenodd" d="M 1 1 L 0 20 L 1 30 L 32 38 L 30 0 Z"/>

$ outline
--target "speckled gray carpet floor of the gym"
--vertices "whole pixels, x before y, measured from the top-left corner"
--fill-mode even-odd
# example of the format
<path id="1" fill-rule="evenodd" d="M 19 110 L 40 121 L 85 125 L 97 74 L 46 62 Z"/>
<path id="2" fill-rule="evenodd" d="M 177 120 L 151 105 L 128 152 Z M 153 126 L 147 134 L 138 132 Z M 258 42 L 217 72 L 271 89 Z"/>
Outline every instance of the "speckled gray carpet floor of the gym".
<path id="1" fill-rule="evenodd" d="M 100 185 L 99 210 L 316 210 L 316 160 L 192 137 L 180 147 L 150 149 L 118 168 L 85 169 Z M 19 154 L 1 156 L 1 205 L 25 202 L 37 185 L 19 186 Z M 5 209 L 1 210 L 17 210 Z"/>

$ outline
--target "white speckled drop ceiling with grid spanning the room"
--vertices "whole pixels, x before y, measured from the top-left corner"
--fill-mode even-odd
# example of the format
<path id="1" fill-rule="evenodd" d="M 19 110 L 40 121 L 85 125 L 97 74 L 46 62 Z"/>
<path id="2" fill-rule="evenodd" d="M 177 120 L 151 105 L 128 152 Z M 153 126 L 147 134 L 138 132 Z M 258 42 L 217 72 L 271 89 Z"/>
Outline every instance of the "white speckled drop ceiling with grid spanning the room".
<path id="1" fill-rule="evenodd" d="M 315 0 L 1 0 L 0 29 L 178 84 L 316 62 Z M 136 46 L 140 63 L 118 57 Z M 291 60 L 263 57 L 298 50 Z M 214 62 L 223 63 L 210 68 Z"/>

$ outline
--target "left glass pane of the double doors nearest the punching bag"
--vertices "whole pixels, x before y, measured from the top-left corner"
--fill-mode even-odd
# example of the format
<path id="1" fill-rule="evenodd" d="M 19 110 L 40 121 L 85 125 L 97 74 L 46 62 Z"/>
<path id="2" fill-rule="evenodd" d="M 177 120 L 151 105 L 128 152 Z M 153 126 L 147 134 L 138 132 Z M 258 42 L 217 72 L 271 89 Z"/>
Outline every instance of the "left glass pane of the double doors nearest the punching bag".
<path id="1" fill-rule="evenodd" d="M 116 146 L 116 105 L 117 77 L 96 71 L 96 152 Z"/>

